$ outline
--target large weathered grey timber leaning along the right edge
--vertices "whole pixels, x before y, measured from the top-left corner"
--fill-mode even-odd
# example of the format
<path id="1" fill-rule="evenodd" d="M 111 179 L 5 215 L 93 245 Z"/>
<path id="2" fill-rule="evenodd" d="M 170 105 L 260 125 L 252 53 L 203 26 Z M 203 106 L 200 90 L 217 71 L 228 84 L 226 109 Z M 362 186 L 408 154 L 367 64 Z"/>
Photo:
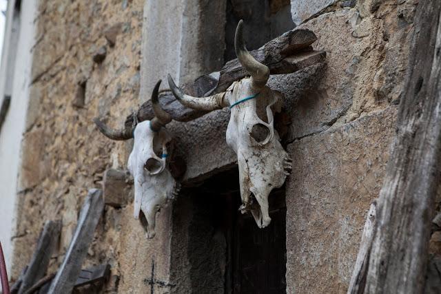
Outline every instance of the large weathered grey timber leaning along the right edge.
<path id="1" fill-rule="evenodd" d="M 441 1 L 422 0 L 365 293 L 423 293 L 441 162 Z"/>

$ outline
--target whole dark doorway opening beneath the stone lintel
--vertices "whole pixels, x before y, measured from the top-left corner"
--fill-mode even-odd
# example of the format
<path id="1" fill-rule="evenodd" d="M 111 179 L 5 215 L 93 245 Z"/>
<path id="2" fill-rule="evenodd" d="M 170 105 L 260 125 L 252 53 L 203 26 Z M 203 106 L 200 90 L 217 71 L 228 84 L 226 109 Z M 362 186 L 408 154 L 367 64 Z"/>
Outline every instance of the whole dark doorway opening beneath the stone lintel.
<path id="1" fill-rule="evenodd" d="M 271 224 L 238 211 L 238 171 L 187 188 L 174 205 L 174 293 L 285 293 L 285 188 L 269 196 Z"/>

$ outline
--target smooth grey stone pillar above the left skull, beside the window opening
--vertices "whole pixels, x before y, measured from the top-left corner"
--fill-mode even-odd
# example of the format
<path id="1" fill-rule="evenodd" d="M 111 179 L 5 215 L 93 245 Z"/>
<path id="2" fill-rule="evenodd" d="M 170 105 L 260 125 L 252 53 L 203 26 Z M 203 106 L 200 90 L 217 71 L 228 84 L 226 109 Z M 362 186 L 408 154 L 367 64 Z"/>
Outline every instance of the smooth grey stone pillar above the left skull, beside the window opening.
<path id="1" fill-rule="evenodd" d="M 142 63 L 148 66 L 141 67 L 140 102 L 150 98 L 158 79 L 165 81 L 167 74 L 181 84 L 222 67 L 225 3 L 145 1 Z M 220 23 L 212 25 L 214 19 Z"/>

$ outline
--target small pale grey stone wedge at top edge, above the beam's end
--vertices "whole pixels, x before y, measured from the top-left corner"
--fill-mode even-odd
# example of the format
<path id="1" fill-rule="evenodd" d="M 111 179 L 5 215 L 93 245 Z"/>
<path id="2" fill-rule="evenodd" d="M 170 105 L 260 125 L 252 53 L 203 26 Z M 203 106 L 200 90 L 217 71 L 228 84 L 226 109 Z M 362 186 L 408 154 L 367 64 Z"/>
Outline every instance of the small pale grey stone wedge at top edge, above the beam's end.
<path id="1" fill-rule="evenodd" d="M 291 17 L 296 25 L 300 25 L 314 14 L 318 14 L 338 0 L 291 0 Z"/>

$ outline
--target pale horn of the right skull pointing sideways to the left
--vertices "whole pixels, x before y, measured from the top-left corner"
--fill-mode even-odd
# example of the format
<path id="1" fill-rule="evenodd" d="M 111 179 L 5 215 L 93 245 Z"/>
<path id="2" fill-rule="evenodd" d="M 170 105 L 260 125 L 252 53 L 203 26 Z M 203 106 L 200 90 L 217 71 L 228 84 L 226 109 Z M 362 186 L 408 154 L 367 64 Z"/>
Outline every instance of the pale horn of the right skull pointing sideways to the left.
<path id="1" fill-rule="evenodd" d="M 225 92 L 208 97 L 193 97 L 184 94 L 182 90 L 176 86 L 170 74 L 167 75 L 167 78 L 168 85 L 170 86 L 170 90 L 172 90 L 173 95 L 179 102 L 187 107 L 198 110 L 212 111 L 214 109 L 221 109 L 228 106 L 227 101 L 224 101 Z"/>

